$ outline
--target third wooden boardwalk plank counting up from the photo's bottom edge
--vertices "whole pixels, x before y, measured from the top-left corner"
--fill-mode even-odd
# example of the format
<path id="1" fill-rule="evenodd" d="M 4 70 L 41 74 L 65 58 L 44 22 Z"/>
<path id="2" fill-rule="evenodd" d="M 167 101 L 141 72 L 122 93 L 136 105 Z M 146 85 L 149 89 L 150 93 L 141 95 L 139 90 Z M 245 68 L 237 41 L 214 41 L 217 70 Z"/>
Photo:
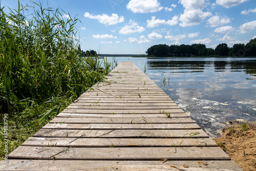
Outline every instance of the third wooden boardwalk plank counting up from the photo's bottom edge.
<path id="1" fill-rule="evenodd" d="M 30 137 L 24 146 L 74 147 L 191 147 L 217 146 L 210 138 L 42 138 Z"/>

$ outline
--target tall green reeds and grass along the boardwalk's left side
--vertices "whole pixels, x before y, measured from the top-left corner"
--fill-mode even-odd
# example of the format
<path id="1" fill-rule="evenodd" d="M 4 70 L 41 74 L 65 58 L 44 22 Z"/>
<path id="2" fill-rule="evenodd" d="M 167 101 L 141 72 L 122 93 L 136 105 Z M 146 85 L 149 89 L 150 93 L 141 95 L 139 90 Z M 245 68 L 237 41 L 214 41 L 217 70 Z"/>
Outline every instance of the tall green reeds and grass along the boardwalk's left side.
<path id="1" fill-rule="evenodd" d="M 28 14 L 29 13 L 29 14 Z M 0 9 L 1 158 L 23 143 L 111 70 L 96 57 L 80 57 L 78 19 L 59 10 L 18 4 Z M 28 15 L 26 15 L 28 14 Z M 103 65 L 103 73 L 99 68 Z M 6 128 L 6 129 L 4 129 Z"/>

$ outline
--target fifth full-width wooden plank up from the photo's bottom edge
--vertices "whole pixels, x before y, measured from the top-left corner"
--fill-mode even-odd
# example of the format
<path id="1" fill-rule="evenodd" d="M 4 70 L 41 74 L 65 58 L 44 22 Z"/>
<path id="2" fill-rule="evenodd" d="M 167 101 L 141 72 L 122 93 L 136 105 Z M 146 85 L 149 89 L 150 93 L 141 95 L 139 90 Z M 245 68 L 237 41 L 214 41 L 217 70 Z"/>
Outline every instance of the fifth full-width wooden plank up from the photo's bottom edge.
<path id="1" fill-rule="evenodd" d="M 112 130 L 112 129 L 134 129 L 134 130 L 156 130 L 156 129 L 165 129 L 165 130 L 184 130 L 184 129 L 200 129 L 196 123 L 163 123 L 163 124 L 102 124 L 102 123 L 48 123 L 44 129 L 71 129 L 71 130 Z"/>

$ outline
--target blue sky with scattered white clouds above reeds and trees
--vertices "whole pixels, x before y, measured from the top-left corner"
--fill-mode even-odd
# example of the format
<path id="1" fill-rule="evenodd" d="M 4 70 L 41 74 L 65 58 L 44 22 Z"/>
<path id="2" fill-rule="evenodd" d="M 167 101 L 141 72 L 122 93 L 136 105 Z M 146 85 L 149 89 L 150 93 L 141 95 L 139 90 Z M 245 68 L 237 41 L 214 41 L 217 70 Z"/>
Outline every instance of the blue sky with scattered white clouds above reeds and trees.
<path id="1" fill-rule="evenodd" d="M 39 1 L 34 0 L 38 3 Z M 81 49 L 104 54 L 145 54 L 153 45 L 205 44 L 216 48 L 256 38 L 255 0 L 40 1 L 80 19 Z M 2 0 L 17 8 L 17 1 Z M 28 0 L 23 5 L 33 6 Z"/>

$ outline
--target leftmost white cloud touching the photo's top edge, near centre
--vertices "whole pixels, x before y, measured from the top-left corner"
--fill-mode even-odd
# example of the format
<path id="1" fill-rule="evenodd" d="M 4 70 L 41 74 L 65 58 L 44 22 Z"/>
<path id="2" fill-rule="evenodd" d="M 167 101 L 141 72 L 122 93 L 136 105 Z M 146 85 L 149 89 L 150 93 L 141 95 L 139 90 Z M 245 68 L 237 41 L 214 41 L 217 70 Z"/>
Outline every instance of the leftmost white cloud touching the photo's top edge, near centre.
<path id="1" fill-rule="evenodd" d="M 126 8 L 134 13 L 158 12 L 163 9 L 157 0 L 131 0 Z"/>

